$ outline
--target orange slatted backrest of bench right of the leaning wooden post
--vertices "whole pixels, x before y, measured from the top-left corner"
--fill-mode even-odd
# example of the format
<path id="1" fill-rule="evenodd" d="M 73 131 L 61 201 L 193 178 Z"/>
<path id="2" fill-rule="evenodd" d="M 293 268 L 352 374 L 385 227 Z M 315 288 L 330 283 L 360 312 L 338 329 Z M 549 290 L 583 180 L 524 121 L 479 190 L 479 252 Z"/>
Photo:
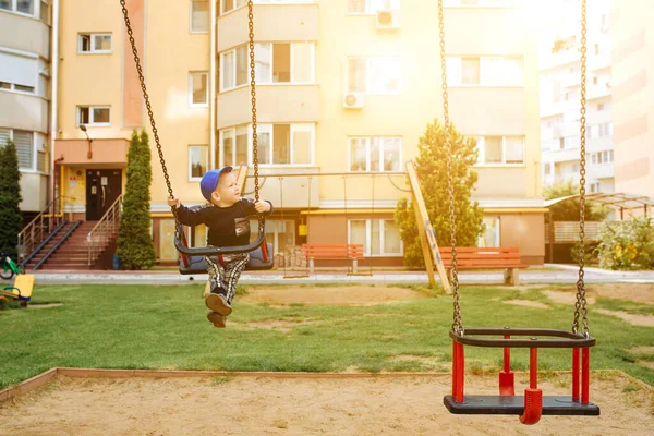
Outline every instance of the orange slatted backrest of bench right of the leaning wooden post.
<path id="1" fill-rule="evenodd" d="M 450 247 L 440 247 L 440 257 L 446 268 L 452 266 L 452 252 Z M 520 267 L 520 250 L 517 246 L 458 246 L 457 266 L 488 268 Z"/>

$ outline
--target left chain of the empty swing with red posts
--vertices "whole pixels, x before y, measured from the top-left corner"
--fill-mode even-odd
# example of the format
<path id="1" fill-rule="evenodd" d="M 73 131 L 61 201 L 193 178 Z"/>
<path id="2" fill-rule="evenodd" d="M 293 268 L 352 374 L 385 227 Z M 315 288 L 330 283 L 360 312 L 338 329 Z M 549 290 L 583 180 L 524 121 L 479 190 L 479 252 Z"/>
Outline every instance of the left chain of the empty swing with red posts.
<path id="1" fill-rule="evenodd" d="M 457 334 L 463 332 L 463 322 L 461 319 L 461 303 L 459 296 L 459 271 L 457 269 L 457 223 L 455 217 L 455 183 L 452 181 L 452 144 L 450 142 L 450 121 L 449 121 L 449 104 L 447 92 L 447 71 L 445 57 L 445 25 L 443 20 L 443 0 L 438 0 L 438 29 L 440 37 L 440 74 L 443 87 L 443 118 L 445 130 L 445 145 L 447 147 L 447 192 L 449 196 L 449 221 L 450 221 L 450 244 L 452 250 L 452 269 L 451 284 L 452 296 L 455 302 L 455 318 L 452 323 L 452 331 Z"/>

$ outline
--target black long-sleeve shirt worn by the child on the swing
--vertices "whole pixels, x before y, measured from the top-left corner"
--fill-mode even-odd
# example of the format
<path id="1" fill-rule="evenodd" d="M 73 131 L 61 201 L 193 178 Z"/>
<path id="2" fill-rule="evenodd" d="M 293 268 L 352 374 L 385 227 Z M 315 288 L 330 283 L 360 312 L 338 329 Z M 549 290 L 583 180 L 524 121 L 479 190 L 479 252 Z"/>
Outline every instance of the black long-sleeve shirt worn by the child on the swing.
<path id="1" fill-rule="evenodd" d="M 270 210 L 265 213 L 269 216 Z M 186 207 L 182 204 L 178 207 L 178 219 L 184 226 L 205 225 L 208 228 L 207 245 L 214 246 L 238 246 L 250 244 L 250 215 L 256 215 L 254 201 L 241 198 L 229 207 L 216 205 Z"/>

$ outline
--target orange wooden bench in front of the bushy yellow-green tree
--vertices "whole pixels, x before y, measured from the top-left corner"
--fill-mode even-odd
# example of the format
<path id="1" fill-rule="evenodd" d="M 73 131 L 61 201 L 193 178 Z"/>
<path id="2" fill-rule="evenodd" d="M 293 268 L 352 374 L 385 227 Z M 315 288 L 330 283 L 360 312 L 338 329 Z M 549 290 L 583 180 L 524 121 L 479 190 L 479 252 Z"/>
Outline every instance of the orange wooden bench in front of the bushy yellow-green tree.
<path id="1" fill-rule="evenodd" d="M 440 249 L 440 257 L 448 274 L 452 269 L 452 253 L 449 247 Z M 457 269 L 504 269 L 504 283 L 520 284 L 519 270 L 528 268 L 520 262 L 520 251 L 517 246 L 458 246 Z"/>

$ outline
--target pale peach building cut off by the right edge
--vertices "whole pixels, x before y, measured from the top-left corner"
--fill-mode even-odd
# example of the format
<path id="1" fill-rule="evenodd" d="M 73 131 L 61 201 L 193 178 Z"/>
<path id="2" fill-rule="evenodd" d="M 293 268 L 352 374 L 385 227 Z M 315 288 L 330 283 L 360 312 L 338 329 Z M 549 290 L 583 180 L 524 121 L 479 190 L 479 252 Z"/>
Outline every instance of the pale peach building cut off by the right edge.
<path id="1" fill-rule="evenodd" d="M 654 197 L 654 3 L 610 2 L 616 190 Z"/>

